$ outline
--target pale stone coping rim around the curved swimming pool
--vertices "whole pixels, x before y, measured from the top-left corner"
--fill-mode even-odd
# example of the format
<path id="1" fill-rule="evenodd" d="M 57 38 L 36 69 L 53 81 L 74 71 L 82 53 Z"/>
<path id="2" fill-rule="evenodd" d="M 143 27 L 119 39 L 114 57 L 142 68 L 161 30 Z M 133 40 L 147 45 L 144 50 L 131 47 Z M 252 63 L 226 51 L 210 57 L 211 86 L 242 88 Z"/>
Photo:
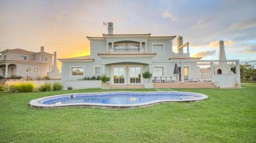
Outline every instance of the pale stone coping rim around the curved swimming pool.
<path id="1" fill-rule="evenodd" d="M 112 109 L 128 109 L 128 108 L 136 108 L 136 107 L 146 107 L 155 105 L 161 102 L 190 102 L 190 101 L 200 101 L 205 100 L 208 98 L 207 95 L 200 94 L 200 93 L 193 93 L 193 92 L 170 92 L 167 91 L 167 93 L 192 93 L 196 95 L 200 95 L 201 97 L 196 99 L 172 99 L 172 100 L 155 100 L 145 103 L 137 103 L 137 104 L 103 104 L 103 103 L 68 103 L 68 104 L 41 104 L 38 103 L 39 100 L 45 99 L 45 98 L 51 98 L 51 97 L 57 97 L 57 96 L 66 96 L 66 95 L 73 95 L 73 94 L 100 94 L 100 93 L 127 93 L 127 91 L 118 91 L 118 92 L 99 92 L 99 93 L 70 93 L 70 94 L 61 94 L 61 95 L 53 95 L 53 96 L 47 96 L 42 97 L 38 99 L 31 100 L 29 102 L 30 107 L 32 108 L 38 108 L 38 109 L 55 109 L 55 108 L 67 108 L 67 107 L 91 107 L 91 108 L 112 108 Z M 128 93 L 166 93 L 165 91 L 160 92 L 129 92 Z"/>

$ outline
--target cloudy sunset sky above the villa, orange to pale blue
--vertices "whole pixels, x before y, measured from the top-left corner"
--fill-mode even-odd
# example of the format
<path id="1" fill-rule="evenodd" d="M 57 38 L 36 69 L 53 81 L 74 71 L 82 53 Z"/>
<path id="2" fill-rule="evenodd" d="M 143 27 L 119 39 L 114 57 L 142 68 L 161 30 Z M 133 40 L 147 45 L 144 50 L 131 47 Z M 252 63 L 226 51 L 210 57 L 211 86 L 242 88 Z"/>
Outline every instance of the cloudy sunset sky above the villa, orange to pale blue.
<path id="1" fill-rule="evenodd" d="M 114 34 L 182 36 L 191 56 L 218 59 L 224 40 L 227 59 L 256 66 L 256 1 L 2 1 L 0 50 L 57 51 L 58 58 L 90 54 L 86 36 Z M 176 51 L 176 39 L 173 49 Z M 58 62 L 60 67 L 60 63 Z"/>

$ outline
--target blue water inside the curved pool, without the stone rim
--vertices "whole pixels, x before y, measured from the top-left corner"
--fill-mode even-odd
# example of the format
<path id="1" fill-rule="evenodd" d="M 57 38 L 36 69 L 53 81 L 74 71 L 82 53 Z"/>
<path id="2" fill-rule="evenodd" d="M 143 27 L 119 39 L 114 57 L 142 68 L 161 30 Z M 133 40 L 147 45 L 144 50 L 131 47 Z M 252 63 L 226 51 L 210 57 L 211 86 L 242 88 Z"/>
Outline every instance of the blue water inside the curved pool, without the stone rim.
<path id="1" fill-rule="evenodd" d="M 38 103 L 49 105 L 72 103 L 139 104 L 159 100 L 189 100 L 201 97 L 200 94 L 181 92 L 109 92 L 55 96 L 39 100 Z"/>

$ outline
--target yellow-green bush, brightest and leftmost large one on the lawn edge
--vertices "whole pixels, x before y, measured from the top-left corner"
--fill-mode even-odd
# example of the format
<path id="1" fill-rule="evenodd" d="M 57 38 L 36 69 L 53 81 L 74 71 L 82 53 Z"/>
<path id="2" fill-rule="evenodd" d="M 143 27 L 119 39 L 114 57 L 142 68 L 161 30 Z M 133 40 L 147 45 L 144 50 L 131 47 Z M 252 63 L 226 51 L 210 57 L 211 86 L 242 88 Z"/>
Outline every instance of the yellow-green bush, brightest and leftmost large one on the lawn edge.
<path id="1" fill-rule="evenodd" d="M 34 83 L 14 83 L 8 86 L 8 91 L 15 93 L 32 92 L 34 89 Z"/>

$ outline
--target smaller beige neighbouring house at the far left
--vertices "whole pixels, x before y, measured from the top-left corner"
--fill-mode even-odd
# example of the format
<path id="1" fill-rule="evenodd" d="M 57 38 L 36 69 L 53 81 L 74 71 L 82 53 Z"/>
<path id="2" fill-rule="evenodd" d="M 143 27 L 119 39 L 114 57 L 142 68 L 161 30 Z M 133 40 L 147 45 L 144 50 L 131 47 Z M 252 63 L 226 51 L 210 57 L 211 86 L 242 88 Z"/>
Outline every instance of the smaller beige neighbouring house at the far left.
<path id="1" fill-rule="evenodd" d="M 55 75 L 52 78 L 60 78 L 56 74 L 57 62 L 56 52 L 54 54 L 45 52 L 43 46 L 40 47 L 40 52 L 32 52 L 24 49 L 7 49 L 0 52 L 0 75 L 10 77 L 18 75 L 22 77 L 31 76 L 46 76 L 51 75 L 54 71 Z M 54 55 L 54 64 L 53 63 Z M 58 69 L 57 69 L 58 72 Z"/>

